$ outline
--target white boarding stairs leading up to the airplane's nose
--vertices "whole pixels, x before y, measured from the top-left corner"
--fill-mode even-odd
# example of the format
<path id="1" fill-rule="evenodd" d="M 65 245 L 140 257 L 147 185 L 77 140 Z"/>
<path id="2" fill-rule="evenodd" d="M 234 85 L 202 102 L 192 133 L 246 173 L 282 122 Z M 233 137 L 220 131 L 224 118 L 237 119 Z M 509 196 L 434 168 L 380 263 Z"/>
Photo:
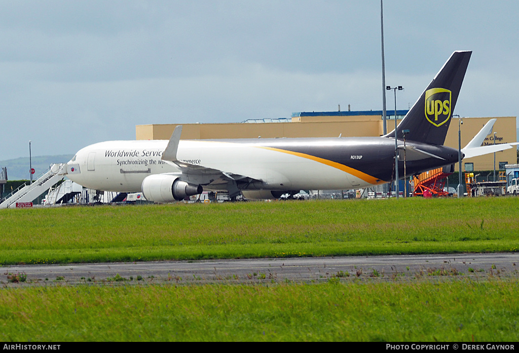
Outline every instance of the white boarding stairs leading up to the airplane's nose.
<path id="1" fill-rule="evenodd" d="M 6 197 L 0 204 L 0 208 L 16 207 L 17 203 L 32 202 L 58 181 L 63 179 L 66 163 L 52 164 L 47 173 L 41 175 L 36 181 L 20 186 Z"/>

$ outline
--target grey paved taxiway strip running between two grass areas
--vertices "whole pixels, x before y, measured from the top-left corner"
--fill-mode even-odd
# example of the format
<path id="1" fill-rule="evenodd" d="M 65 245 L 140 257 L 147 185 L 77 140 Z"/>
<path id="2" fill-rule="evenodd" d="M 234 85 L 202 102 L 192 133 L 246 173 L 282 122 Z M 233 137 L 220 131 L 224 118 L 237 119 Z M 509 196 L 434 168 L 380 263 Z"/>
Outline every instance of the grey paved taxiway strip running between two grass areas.
<path id="1" fill-rule="evenodd" d="M 472 270 L 472 271 L 471 271 Z M 342 271 L 342 273 L 341 273 Z M 251 283 L 325 281 L 342 279 L 414 279 L 519 277 L 519 253 L 401 255 L 362 257 L 277 258 L 202 261 L 159 261 L 2 267 L 2 283 L 9 273 L 25 273 L 26 284 L 106 283 L 116 275 L 131 283 Z M 349 274 L 349 276 L 347 276 Z M 378 274 L 378 275 L 377 275 Z M 432 275 L 430 275 L 432 274 Z M 138 276 L 141 281 L 136 280 Z"/>

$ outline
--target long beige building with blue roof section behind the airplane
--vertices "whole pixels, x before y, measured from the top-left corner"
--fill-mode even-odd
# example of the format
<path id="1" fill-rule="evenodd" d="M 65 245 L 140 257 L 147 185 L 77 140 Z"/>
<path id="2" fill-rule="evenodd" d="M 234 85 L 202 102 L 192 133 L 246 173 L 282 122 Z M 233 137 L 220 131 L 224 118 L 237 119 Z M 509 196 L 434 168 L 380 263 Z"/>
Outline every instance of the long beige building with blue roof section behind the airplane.
<path id="1" fill-rule="evenodd" d="M 397 110 L 398 120 L 406 110 Z M 390 114 L 391 111 L 388 111 Z M 388 117 L 387 131 L 394 130 L 394 115 Z M 392 119 L 389 119 L 392 118 Z M 461 147 L 466 146 L 485 123 L 493 118 L 463 118 L 461 125 Z M 278 121 L 278 122 L 263 122 Z M 445 145 L 458 148 L 458 118 L 450 122 Z M 136 139 L 169 139 L 175 126 L 180 124 L 136 125 Z M 294 113 L 291 119 L 265 119 L 243 123 L 182 124 L 182 139 L 213 138 L 263 138 L 271 137 L 358 137 L 383 135 L 381 111 L 302 112 Z M 495 134 L 494 134 L 495 133 Z M 498 117 L 493 133 L 487 136 L 486 144 L 516 142 L 515 117 Z M 496 152 L 496 170 L 504 164 L 517 161 L 515 148 Z M 463 170 L 484 171 L 494 169 L 494 153 L 462 161 Z M 456 164 L 456 171 L 458 165 Z"/>

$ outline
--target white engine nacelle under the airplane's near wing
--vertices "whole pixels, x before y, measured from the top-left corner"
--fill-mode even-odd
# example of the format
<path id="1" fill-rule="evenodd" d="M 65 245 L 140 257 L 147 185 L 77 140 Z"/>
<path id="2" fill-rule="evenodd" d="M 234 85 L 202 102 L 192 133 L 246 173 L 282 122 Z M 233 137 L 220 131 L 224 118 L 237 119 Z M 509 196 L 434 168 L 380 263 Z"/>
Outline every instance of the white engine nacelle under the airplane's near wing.
<path id="1" fill-rule="evenodd" d="M 165 203 L 184 200 L 187 196 L 201 194 L 201 185 L 190 184 L 179 177 L 167 174 L 154 174 L 142 181 L 142 193 L 146 200 Z"/>

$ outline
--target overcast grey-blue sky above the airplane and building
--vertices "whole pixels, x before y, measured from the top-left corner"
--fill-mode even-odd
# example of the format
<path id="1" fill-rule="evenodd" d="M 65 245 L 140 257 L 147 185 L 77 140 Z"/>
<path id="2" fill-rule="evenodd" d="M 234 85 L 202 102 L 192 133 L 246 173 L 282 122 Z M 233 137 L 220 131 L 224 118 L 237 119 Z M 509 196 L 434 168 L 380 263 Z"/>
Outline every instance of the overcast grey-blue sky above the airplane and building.
<path id="1" fill-rule="evenodd" d="M 454 114 L 519 115 L 518 16 L 517 1 L 386 1 L 398 108 L 472 50 Z M 135 139 L 138 124 L 381 110 L 382 92 L 378 0 L 0 0 L 0 160 L 29 140 L 42 156 Z"/>

